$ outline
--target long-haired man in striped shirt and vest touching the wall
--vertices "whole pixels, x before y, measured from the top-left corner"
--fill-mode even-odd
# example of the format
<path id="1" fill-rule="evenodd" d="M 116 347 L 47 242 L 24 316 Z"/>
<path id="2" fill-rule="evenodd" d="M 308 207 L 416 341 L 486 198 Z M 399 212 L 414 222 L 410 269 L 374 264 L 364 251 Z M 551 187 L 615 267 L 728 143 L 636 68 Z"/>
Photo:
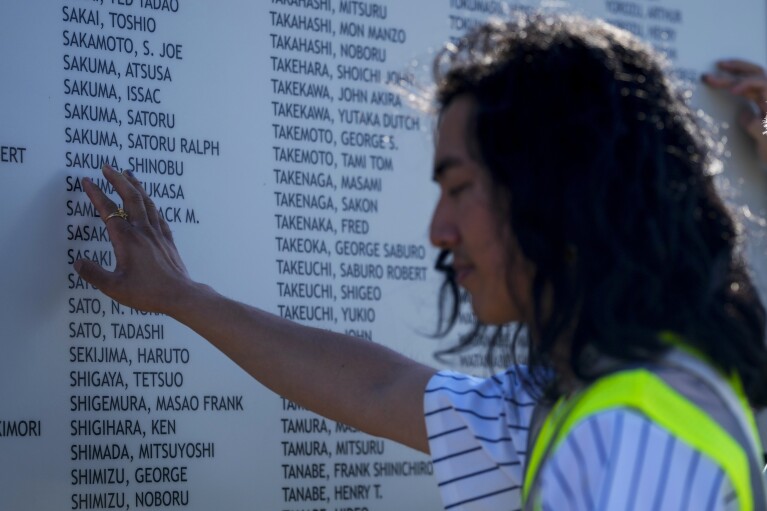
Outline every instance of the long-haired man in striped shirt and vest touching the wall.
<path id="1" fill-rule="evenodd" d="M 435 69 L 445 289 L 471 295 L 465 344 L 524 325 L 526 366 L 437 373 L 226 299 L 109 168 L 124 210 L 85 186 L 117 265 L 76 270 L 283 396 L 430 452 L 447 509 L 767 509 L 750 411 L 767 405 L 765 309 L 712 141 L 659 58 L 604 23 L 531 15 L 472 32 Z"/>

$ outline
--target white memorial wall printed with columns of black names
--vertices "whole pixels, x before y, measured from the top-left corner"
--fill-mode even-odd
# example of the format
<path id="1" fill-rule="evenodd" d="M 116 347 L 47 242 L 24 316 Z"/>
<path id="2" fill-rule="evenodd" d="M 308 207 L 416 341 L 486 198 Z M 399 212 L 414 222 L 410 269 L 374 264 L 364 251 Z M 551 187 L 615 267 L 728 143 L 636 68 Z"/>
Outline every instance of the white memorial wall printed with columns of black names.
<path id="1" fill-rule="evenodd" d="M 544 4 L 641 35 L 693 81 L 719 58 L 767 63 L 762 1 Z M 190 273 L 222 293 L 435 363 L 433 123 L 407 96 L 441 43 L 504 6 L 0 8 L 0 509 L 439 509 L 427 457 L 313 415 L 79 279 L 79 257 L 114 264 L 81 179 L 109 191 L 101 163 L 131 169 Z M 734 101 L 693 90 L 733 122 Z M 722 182 L 764 294 L 767 173 L 723 132 Z M 480 358 L 456 366 L 476 372 Z"/>

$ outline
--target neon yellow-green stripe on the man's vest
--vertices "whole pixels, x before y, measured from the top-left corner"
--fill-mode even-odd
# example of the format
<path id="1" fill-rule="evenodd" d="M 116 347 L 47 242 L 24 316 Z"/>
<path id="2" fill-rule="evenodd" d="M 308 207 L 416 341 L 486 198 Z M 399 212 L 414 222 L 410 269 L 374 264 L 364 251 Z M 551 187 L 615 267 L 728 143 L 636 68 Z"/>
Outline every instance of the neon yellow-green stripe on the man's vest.
<path id="1" fill-rule="evenodd" d="M 559 400 L 546 418 L 530 454 L 522 488 L 523 502 L 530 497 L 541 464 L 568 433 L 590 416 L 614 408 L 639 411 L 679 440 L 708 456 L 732 483 L 739 509 L 753 511 L 748 453 L 708 414 L 646 369 L 613 373 L 600 378 L 573 399 Z M 689 424 L 696 427 L 686 427 Z M 536 502 L 532 504 L 538 508 Z"/>

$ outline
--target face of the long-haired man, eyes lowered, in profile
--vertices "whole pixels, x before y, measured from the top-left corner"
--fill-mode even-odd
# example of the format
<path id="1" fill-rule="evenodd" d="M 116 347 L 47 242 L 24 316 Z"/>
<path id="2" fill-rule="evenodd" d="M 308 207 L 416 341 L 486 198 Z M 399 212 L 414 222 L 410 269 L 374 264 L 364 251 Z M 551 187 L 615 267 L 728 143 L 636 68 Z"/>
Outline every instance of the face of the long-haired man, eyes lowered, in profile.
<path id="1" fill-rule="evenodd" d="M 440 198 L 430 238 L 453 253 L 459 285 L 472 298 L 477 318 L 486 324 L 524 321 L 529 314 L 532 265 L 519 251 L 493 200 L 493 184 L 470 154 L 467 126 L 474 101 L 460 96 L 445 109 L 434 155 L 434 180 Z"/>

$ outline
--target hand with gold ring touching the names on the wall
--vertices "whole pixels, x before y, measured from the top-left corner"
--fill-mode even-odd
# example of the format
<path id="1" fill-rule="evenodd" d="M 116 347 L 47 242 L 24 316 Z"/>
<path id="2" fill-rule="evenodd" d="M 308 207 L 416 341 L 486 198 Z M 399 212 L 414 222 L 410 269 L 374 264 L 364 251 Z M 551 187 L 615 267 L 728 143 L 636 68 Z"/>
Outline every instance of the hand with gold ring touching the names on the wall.
<path id="1" fill-rule="evenodd" d="M 107 165 L 102 171 L 122 198 L 127 217 L 115 214 L 122 210 L 91 180 L 84 179 L 83 188 L 105 219 L 117 262 L 111 272 L 82 259 L 75 261 L 74 268 L 83 279 L 124 305 L 170 313 L 194 284 L 170 228 L 131 173 L 120 173 Z"/>

